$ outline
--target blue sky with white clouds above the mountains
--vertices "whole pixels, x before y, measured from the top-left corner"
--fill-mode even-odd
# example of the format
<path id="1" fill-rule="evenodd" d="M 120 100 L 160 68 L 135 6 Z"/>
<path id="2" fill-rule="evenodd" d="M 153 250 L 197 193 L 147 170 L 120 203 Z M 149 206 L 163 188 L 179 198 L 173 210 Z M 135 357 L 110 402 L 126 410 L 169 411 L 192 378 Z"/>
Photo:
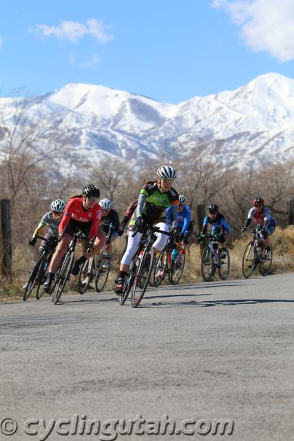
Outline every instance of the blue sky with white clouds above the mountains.
<path id="1" fill-rule="evenodd" d="M 179 103 L 266 72 L 294 78 L 293 0 L 11 0 L 1 96 L 101 84 Z"/>

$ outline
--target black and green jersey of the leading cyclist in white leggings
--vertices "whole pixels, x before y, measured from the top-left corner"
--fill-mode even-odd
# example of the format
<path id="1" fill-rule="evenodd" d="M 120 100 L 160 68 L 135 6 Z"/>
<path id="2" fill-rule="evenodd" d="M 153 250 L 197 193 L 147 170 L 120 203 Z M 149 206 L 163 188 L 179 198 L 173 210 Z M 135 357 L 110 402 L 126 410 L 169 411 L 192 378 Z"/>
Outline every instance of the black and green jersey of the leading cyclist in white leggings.
<path id="1" fill-rule="evenodd" d="M 165 219 L 165 209 L 178 206 L 178 193 L 171 187 L 167 192 L 160 193 L 156 181 L 147 181 L 140 194 L 147 196 L 142 216 L 146 223 L 154 223 L 156 220 Z M 136 222 L 136 213 L 133 214 L 129 225 Z"/>

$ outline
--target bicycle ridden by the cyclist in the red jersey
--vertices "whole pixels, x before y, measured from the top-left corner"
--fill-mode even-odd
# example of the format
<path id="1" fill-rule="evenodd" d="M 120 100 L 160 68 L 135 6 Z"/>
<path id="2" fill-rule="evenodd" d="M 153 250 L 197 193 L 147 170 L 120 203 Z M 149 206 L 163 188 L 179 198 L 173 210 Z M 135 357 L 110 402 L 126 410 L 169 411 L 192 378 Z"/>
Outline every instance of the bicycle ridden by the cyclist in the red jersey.
<path id="1" fill-rule="evenodd" d="M 74 266 L 74 250 L 76 249 L 76 243 L 78 242 L 78 239 L 88 240 L 87 236 L 85 236 L 85 234 L 83 234 L 83 232 L 81 232 L 80 230 L 78 230 L 78 232 L 76 232 L 72 237 L 67 252 L 63 257 L 61 267 L 59 271 L 57 271 L 55 274 L 55 285 L 52 291 L 52 302 L 54 303 L 54 305 L 56 305 L 56 303 L 61 298 L 61 294 L 65 289 L 67 280 L 70 280 L 70 274 L 72 273 L 72 267 Z"/>

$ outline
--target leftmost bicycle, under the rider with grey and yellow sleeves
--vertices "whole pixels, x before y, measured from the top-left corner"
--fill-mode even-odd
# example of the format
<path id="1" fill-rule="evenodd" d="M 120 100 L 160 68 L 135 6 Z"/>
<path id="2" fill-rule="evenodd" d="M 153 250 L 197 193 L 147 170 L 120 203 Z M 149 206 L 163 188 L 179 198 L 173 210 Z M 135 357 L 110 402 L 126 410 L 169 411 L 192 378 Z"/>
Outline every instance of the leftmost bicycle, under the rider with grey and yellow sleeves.
<path id="1" fill-rule="evenodd" d="M 45 247 L 39 254 L 36 263 L 34 264 L 32 271 L 30 272 L 28 283 L 25 285 L 25 291 L 23 293 L 23 301 L 28 300 L 34 288 L 36 288 L 37 300 L 39 300 L 43 295 L 43 291 L 40 291 L 40 287 L 45 281 L 45 276 L 48 271 L 48 267 L 50 265 L 54 250 L 56 248 L 57 238 L 51 237 L 49 239 L 46 239 L 45 237 L 39 236 L 38 234 L 36 235 L 36 237 L 45 240 Z"/>

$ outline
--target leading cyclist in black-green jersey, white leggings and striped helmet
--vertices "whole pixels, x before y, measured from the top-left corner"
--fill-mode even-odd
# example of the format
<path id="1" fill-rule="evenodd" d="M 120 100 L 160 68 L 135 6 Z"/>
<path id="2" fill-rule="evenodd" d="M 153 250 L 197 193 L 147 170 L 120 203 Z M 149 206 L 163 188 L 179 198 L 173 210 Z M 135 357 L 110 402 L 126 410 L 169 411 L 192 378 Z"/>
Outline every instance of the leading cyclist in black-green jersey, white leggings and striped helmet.
<path id="1" fill-rule="evenodd" d="M 171 206 L 171 232 L 176 232 L 178 218 L 178 193 L 171 187 L 176 179 L 176 170 L 169 165 L 163 165 L 157 170 L 158 178 L 156 181 L 147 181 L 140 189 L 138 196 L 138 205 L 129 223 L 129 238 L 127 249 L 120 262 L 118 274 L 118 283 L 114 289 L 115 293 L 120 295 L 123 292 L 125 276 L 129 270 L 132 258 L 138 249 L 140 238 L 142 237 L 146 224 L 155 225 L 165 232 L 169 231 L 169 225 L 165 220 L 165 209 Z M 138 233 L 132 237 L 131 232 L 137 229 Z M 156 233 L 154 249 L 161 251 L 167 244 L 168 236 Z"/>

